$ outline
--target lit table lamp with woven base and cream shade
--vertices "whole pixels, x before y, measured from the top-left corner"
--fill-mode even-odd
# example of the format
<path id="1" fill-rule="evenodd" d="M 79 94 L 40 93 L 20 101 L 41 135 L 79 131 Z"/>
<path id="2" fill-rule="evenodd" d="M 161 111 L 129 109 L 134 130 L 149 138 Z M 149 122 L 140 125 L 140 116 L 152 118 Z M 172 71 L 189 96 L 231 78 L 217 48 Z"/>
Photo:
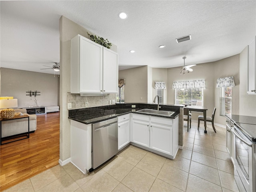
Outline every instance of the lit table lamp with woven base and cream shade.
<path id="1" fill-rule="evenodd" d="M 13 118 L 15 115 L 15 110 L 13 107 L 18 107 L 18 99 L 0 99 L 0 115 L 3 119 Z"/>

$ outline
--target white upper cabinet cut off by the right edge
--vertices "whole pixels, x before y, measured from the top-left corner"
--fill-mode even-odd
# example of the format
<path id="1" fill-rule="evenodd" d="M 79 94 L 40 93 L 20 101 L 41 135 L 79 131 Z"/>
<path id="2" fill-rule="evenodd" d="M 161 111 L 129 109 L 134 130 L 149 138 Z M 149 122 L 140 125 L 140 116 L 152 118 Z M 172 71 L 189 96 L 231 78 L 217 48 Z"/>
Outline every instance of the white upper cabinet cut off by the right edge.
<path id="1" fill-rule="evenodd" d="M 247 93 L 256 94 L 256 43 L 255 39 L 248 45 Z"/>

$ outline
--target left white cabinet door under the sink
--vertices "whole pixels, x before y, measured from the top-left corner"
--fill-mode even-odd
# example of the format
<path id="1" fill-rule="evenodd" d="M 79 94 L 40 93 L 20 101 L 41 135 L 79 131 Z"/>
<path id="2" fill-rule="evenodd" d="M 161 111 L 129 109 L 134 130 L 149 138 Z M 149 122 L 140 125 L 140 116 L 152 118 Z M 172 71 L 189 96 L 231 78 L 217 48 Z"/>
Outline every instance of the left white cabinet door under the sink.
<path id="1" fill-rule="evenodd" d="M 132 142 L 149 147 L 149 122 L 132 121 Z"/>

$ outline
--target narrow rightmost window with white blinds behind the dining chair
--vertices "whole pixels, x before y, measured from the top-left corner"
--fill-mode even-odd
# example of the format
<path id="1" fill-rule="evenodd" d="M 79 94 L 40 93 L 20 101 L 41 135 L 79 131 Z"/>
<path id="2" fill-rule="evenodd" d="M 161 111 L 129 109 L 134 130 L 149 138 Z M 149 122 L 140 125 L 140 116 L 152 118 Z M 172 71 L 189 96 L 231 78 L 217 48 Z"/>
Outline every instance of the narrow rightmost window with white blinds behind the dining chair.
<path id="1" fill-rule="evenodd" d="M 232 87 L 220 88 L 220 115 L 231 114 Z"/>

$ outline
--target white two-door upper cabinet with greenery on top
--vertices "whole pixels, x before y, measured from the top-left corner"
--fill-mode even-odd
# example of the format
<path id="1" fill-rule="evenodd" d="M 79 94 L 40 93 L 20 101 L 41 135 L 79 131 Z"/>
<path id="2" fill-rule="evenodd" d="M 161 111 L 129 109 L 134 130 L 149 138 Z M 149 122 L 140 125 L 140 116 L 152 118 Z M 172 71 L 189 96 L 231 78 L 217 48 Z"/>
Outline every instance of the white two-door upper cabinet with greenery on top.
<path id="1" fill-rule="evenodd" d="M 118 92 L 118 54 L 81 35 L 71 40 L 70 91 Z"/>

